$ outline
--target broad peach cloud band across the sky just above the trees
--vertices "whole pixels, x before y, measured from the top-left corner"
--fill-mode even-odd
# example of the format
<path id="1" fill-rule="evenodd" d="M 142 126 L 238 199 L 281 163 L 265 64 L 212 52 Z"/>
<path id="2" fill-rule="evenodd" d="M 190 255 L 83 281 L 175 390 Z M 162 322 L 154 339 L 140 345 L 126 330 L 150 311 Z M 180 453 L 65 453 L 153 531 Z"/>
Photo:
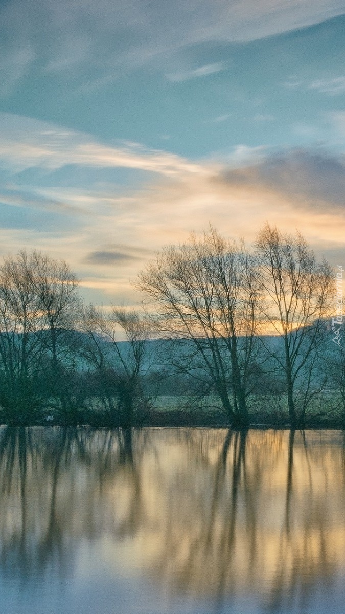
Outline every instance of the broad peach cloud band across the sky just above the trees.
<path id="1" fill-rule="evenodd" d="M 328 122 L 344 122 L 344 113 L 333 112 Z M 76 269 L 88 300 L 134 300 L 130 279 L 145 260 L 209 221 L 234 238 L 254 239 L 269 220 L 284 230 L 299 228 L 314 246 L 328 242 L 333 253 L 343 246 L 345 163 L 321 147 L 273 152 L 239 144 L 214 159 L 190 161 L 139 144 L 105 146 L 87 134 L 15 115 L 0 120 L 4 202 L 36 211 L 34 228 L 0 225 L 1 253 L 48 248 Z M 56 186 L 55 169 L 63 165 L 92 165 L 92 182 L 85 186 L 81 174 L 78 184 L 73 172 L 70 183 Z M 141 184 L 98 181 L 104 167 L 118 166 L 144 171 Z M 20 182 L 23 175 L 30 184 Z M 68 223 L 47 230 L 39 208 L 59 211 Z"/>

